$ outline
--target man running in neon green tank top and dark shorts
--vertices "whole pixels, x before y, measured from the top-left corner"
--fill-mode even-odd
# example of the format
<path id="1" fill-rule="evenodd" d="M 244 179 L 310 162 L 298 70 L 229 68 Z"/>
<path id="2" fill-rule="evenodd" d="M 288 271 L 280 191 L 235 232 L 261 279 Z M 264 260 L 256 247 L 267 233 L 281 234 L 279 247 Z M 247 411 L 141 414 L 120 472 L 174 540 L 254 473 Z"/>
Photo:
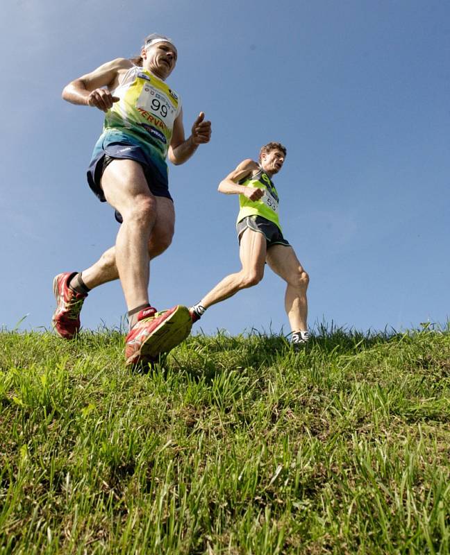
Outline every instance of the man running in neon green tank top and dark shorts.
<path id="1" fill-rule="evenodd" d="M 227 275 L 197 305 L 190 308 L 192 321 L 204 311 L 240 289 L 252 287 L 263 279 L 265 262 L 285 280 L 285 310 L 292 330 L 291 343 L 297 350 L 308 341 L 309 277 L 294 249 L 283 237 L 278 221 L 278 192 L 272 182 L 283 167 L 286 149 L 271 142 L 260 150 L 259 163 L 244 160 L 219 184 L 224 194 L 238 194 L 240 211 L 236 228 L 240 243 L 242 268 Z"/>

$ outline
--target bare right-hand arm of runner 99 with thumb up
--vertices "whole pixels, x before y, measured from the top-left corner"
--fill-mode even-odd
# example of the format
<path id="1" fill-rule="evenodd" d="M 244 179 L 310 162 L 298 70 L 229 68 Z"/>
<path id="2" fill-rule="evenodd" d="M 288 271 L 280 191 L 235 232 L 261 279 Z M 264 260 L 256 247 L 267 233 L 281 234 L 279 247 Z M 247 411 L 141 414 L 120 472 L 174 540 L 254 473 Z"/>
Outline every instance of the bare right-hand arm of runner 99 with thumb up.
<path id="1" fill-rule="evenodd" d="M 199 144 L 208 143 L 211 138 L 211 122 L 204 121 L 205 114 L 200 112 L 199 117 L 194 121 L 191 135 L 185 139 L 183 127 L 183 110 L 174 121 L 174 130 L 172 133 L 172 141 L 170 142 L 169 160 L 172 164 L 178 166 L 184 164 L 197 151 Z"/>

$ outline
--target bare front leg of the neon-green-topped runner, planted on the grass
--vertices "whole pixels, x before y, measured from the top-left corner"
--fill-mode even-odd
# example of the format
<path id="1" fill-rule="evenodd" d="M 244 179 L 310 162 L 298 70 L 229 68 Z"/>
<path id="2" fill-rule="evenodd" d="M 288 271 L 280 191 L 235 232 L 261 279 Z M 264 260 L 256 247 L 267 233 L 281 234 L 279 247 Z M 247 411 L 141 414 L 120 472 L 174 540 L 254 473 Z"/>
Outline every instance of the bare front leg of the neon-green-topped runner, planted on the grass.
<path id="1" fill-rule="evenodd" d="M 288 286 L 285 293 L 285 310 L 292 332 L 308 330 L 308 289 L 309 276 L 301 266 L 292 247 L 274 245 L 267 250 L 267 264 Z"/>

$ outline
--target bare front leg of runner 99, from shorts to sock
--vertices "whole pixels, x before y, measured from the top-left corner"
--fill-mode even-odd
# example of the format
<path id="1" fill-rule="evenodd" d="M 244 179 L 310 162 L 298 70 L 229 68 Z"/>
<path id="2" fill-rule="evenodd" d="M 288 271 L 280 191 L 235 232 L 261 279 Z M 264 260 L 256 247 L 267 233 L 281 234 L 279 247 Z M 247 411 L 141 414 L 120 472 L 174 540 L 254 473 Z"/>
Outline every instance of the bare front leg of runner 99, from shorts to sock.
<path id="1" fill-rule="evenodd" d="M 124 219 L 117 233 L 115 261 L 130 310 L 149 302 L 147 246 L 156 222 L 156 200 L 142 167 L 133 160 L 113 160 L 103 173 L 101 186 L 108 203 Z"/>

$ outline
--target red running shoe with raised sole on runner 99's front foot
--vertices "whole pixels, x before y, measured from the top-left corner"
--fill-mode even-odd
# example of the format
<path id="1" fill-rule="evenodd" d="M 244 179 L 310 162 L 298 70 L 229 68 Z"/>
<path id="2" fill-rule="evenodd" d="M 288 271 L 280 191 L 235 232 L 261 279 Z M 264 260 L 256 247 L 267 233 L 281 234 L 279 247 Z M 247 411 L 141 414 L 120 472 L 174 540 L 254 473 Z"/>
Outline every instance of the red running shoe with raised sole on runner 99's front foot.
<path id="1" fill-rule="evenodd" d="M 151 314 L 151 316 L 149 316 Z M 140 311 L 138 323 L 126 336 L 126 364 L 153 362 L 162 352 L 169 352 L 190 334 L 192 320 L 187 307 L 176 305 L 156 312 L 146 308 Z"/>

